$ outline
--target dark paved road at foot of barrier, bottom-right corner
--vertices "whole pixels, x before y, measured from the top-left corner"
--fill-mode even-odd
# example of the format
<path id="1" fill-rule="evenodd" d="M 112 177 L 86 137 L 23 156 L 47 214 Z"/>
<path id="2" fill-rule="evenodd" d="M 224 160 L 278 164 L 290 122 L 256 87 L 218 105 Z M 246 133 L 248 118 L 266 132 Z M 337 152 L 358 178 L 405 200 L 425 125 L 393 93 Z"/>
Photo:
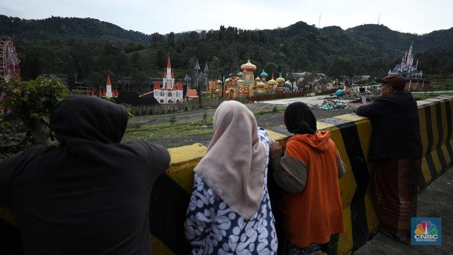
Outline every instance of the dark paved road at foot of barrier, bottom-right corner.
<path id="1" fill-rule="evenodd" d="M 442 245 L 405 245 L 378 232 L 370 241 L 353 252 L 353 255 L 453 254 L 453 167 L 422 190 L 418 196 L 417 209 L 418 217 L 442 218 Z"/>

